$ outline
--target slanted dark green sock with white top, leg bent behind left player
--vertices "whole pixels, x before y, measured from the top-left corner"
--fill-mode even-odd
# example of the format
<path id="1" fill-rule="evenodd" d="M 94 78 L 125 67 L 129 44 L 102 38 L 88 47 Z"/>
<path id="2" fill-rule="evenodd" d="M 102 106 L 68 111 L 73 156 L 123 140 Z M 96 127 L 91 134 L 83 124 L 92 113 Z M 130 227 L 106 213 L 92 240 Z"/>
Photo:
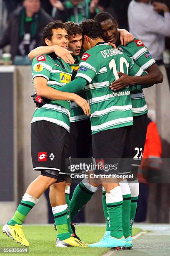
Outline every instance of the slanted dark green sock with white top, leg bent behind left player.
<path id="1" fill-rule="evenodd" d="M 74 190 L 72 199 L 70 201 L 70 211 L 71 211 L 71 222 L 73 222 L 75 215 L 82 209 L 84 205 L 91 199 L 92 195 L 95 193 L 87 189 L 83 184 L 85 182 L 88 187 L 92 187 L 93 191 L 97 190 L 97 187 L 91 186 L 86 179 L 82 180 L 80 184 Z"/>

